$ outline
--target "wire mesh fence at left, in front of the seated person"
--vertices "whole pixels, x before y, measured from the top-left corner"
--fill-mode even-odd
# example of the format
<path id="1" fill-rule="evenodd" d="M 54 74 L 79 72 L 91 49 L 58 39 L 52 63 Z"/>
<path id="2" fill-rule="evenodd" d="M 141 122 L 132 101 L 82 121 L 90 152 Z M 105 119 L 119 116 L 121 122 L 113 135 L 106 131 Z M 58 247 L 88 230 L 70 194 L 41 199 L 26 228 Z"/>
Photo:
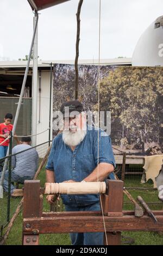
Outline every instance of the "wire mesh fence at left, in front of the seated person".
<path id="1" fill-rule="evenodd" d="M 28 144 L 20 144 L 12 149 L 12 154 L 0 159 L 0 180 L 3 187 L 3 196 L 0 198 L 0 228 L 1 237 L 3 230 L 14 215 L 22 197 L 14 197 L 15 188 L 22 188 L 24 180 L 34 178 L 37 168 L 47 153 L 49 141 L 30 147 Z M 44 163 L 42 170 L 45 169 Z"/>

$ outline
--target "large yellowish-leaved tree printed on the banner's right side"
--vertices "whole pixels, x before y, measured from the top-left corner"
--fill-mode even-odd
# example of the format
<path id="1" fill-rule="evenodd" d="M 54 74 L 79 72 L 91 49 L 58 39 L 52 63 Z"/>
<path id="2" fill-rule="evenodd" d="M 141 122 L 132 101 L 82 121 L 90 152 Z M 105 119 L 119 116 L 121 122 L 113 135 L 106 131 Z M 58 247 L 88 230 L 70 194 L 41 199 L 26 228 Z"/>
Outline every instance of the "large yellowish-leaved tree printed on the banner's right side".
<path id="1" fill-rule="evenodd" d="M 146 149 L 161 144 L 160 97 L 163 69 L 118 67 L 101 82 L 100 110 L 111 111 L 111 137 L 118 145 L 125 139 L 130 148 Z M 97 106 L 96 106 L 97 107 Z"/>

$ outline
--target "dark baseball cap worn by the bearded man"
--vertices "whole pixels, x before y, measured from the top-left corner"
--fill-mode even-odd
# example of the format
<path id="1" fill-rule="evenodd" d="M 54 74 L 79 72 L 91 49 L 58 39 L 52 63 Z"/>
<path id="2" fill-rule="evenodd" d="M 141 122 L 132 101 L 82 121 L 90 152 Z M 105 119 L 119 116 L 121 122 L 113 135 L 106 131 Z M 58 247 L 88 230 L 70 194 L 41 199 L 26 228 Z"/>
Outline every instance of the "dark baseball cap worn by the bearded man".
<path id="1" fill-rule="evenodd" d="M 66 101 L 61 105 L 63 117 L 74 117 L 83 111 L 83 105 L 78 100 Z"/>

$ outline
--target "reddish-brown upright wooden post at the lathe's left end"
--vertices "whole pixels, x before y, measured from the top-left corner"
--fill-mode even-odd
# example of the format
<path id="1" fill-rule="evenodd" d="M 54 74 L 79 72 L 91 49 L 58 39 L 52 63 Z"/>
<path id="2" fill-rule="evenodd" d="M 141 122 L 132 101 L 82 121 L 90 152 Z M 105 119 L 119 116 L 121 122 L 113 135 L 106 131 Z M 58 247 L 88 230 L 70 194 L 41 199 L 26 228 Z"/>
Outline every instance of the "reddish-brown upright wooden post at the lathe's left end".
<path id="1" fill-rule="evenodd" d="M 40 180 L 24 181 L 23 218 L 40 217 L 42 200 L 40 200 Z M 30 224 L 26 224 L 30 228 Z M 33 235 L 23 234 L 23 245 L 39 245 L 39 230 L 33 230 Z"/>

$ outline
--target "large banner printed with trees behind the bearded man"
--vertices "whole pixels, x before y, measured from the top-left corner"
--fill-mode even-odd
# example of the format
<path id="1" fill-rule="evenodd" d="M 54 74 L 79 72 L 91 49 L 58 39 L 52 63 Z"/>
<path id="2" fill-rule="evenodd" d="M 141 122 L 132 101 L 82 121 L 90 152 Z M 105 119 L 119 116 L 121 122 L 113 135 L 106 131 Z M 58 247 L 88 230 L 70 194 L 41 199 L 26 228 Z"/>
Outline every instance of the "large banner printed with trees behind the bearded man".
<path id="1" fill-rule="evenodd" d="M 74 99 L 74 78 L 74 65 L 54 65 L 53 112 Z M 99 78 L 99 110 L 111 112 L 113 147 L 130 155 L 163 149 L 163 68 L 100 66 Z M 79 65 L 79 97 L 85 111 L 98 110 L 98 66 Z"/>

